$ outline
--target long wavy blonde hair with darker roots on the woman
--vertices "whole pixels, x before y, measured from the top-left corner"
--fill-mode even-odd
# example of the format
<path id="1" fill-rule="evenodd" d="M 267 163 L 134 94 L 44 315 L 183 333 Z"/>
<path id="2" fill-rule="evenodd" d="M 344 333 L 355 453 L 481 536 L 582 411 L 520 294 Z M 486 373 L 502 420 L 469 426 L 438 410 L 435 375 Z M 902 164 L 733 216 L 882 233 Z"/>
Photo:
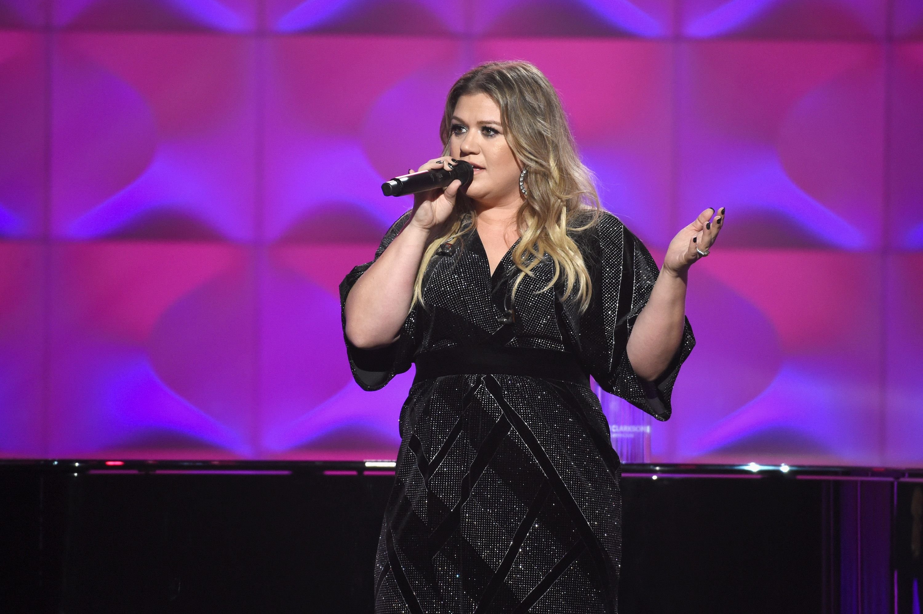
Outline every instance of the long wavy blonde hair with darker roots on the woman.
<path id="1" fill-rule="evenodd" d="M 599 218 L 599 195 L 593 172 L 583 166 L 570 133 L 567 116 L 557 91 L 547 77 L 529 62 L 487 62 L 462 75 L 449 90 L 439 126 L 442 155 L 450 155 L 451 117 L 458 100 L 468 94 L 484 93 L 497 103 L 509 148 L 526 169 L 528 195 L 520 207 L 517 223 L 521 240 L 512 252 L 520 273 L 513 282 L 511 299 L 525 276 L 545 254 L 554 263 L 554 276 L 545 291 L 563 282 L 563 295 L 580 301 L 584 311 L 590 302 L 592 284 L 580 249 L 569 231 L 586 230 Z M 473 202 L 460 191 L 452 212 L 435 231 L 437 237 L 426 246 L 414 283 L 414 304 L 423 304 L 426 266 L 445 242 L 455 242 L 472 230 L 477 219 Z"/>

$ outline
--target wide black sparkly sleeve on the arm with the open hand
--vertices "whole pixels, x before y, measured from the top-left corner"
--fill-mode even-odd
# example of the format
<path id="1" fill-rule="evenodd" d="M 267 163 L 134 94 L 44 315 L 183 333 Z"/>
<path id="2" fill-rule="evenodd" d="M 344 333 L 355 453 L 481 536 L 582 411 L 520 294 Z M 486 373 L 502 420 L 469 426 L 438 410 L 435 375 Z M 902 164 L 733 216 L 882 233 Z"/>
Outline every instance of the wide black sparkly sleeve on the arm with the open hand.
<path id="1" fill-rule="evenodd" d="M 593 280 L 593 299 L 581 316 L 581 360 L 600 386 L 658 420 L 670 417 L 670 396 L 679 367 L 695 346 L 687 318 L 676 354 L 653 382 L 631 367 L 631 328 L 651 296 L 660 271 L 651 253 L 610 213 L 589 232 L 584 260 Z"/>

